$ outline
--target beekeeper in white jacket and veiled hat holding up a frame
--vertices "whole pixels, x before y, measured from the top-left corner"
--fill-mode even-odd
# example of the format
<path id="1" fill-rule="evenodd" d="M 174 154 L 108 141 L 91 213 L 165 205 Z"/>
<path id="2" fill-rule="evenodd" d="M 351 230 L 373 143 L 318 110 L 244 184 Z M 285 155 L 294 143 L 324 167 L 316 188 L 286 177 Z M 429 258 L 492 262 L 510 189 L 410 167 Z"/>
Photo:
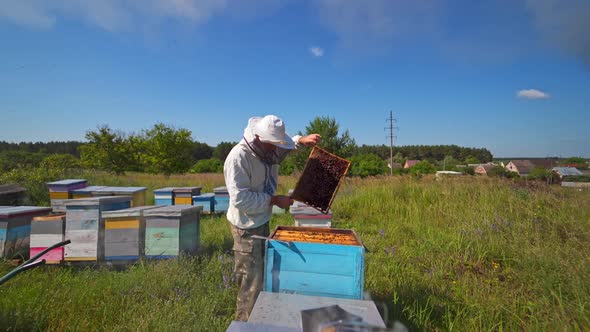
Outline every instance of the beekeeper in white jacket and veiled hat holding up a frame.
<path id="1" fill-rule="evenodd" d="M 225 160 L 227 219 L 234 239 L 234 273 L 239 285 L 237 320 L 248 320 L 264 279 L 264 240 L 252 236 L 269 235 L 273 205 L 286 209 L 293 204 L 289 196 L 275 195 L 279 163 L 297 145 L 314 146 L 319 140 L 318 134 L 290 137 L 277 116 L 253 117 L 248 120 L 244 137 Z"/>

